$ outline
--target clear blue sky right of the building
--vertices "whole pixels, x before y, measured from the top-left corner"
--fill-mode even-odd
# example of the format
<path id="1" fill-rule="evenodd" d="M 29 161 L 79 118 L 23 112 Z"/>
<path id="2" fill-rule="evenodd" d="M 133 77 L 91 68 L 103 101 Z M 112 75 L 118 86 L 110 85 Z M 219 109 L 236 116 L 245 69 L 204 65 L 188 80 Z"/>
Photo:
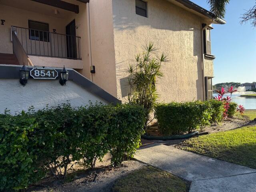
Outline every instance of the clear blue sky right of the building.
<path id="1" fill-rule="evenodd" d="M 210 10 L 207 0 L 191 0 Z M 255 5 L 255 0 L 230 0 L 226 7 L 226 24 L 213 24 L 211 30 L 214 60 L 213 84 L 222 82 L 256 82 L 256 28 L 240 24 L 240 17 Z"/>

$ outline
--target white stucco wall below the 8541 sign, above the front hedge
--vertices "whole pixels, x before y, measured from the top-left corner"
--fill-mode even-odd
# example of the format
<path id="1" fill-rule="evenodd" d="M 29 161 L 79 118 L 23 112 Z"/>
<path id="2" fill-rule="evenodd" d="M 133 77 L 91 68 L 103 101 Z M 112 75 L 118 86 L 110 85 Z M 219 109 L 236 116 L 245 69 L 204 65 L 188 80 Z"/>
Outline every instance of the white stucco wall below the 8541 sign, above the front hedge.
<path id="1" fill-rule="evenodd" d="M 71 80 L 61 86 L 58 80 L 29 79 L 26 86 L 22 86 L 18 79 L 0 79 L 0 98 L 0 113 L 8 108 L 12 114 L 30 106 L 39 110 L 47 104 L 56 106 L 67 101 L 74 107 L 84 106 L 89 100 L 108 103 Z"/>

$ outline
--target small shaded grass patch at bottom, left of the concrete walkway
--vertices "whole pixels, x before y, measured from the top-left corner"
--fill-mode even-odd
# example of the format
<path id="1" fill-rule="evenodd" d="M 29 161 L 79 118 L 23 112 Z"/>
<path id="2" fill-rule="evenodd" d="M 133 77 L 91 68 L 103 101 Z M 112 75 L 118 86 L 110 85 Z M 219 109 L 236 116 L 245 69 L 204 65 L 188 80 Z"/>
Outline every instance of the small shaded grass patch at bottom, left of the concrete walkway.
<path id="1" fill-rule="evenodd" d="M 112 190 L 113 192 L 186 192 L 189 190 L 189 183 L 169 172 L 144 166 L 117 180 Z"/>

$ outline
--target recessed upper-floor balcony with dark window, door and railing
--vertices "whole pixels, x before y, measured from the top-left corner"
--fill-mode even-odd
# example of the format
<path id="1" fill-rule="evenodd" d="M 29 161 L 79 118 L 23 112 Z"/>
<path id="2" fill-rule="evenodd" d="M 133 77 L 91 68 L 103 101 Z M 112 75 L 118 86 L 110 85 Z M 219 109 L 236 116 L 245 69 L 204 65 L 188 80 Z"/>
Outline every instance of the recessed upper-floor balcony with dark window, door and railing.
<path id="1" fill-rule="evenodd" d="M 0 32 L 0 64 L 9 58 L 9 64 L 16 64 L 17 58 L 20 65 L 83 69 L 82 53 L 88 52 L 85 3 L 1 0 L 0 12 L 6 20 Z"/>

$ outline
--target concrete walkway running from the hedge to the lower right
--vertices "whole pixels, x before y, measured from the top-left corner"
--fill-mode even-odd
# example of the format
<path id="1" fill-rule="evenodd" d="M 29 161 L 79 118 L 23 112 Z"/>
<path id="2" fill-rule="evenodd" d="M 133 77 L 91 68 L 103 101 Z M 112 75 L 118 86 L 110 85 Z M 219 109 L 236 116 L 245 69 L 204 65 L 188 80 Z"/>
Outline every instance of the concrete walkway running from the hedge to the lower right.
<path id="1" fill-rule="evenodd" d="M 190 192 L 256 192 L 256 170 L 163 144 L 140 148 L 136 160 L 191 181 Z"/>

